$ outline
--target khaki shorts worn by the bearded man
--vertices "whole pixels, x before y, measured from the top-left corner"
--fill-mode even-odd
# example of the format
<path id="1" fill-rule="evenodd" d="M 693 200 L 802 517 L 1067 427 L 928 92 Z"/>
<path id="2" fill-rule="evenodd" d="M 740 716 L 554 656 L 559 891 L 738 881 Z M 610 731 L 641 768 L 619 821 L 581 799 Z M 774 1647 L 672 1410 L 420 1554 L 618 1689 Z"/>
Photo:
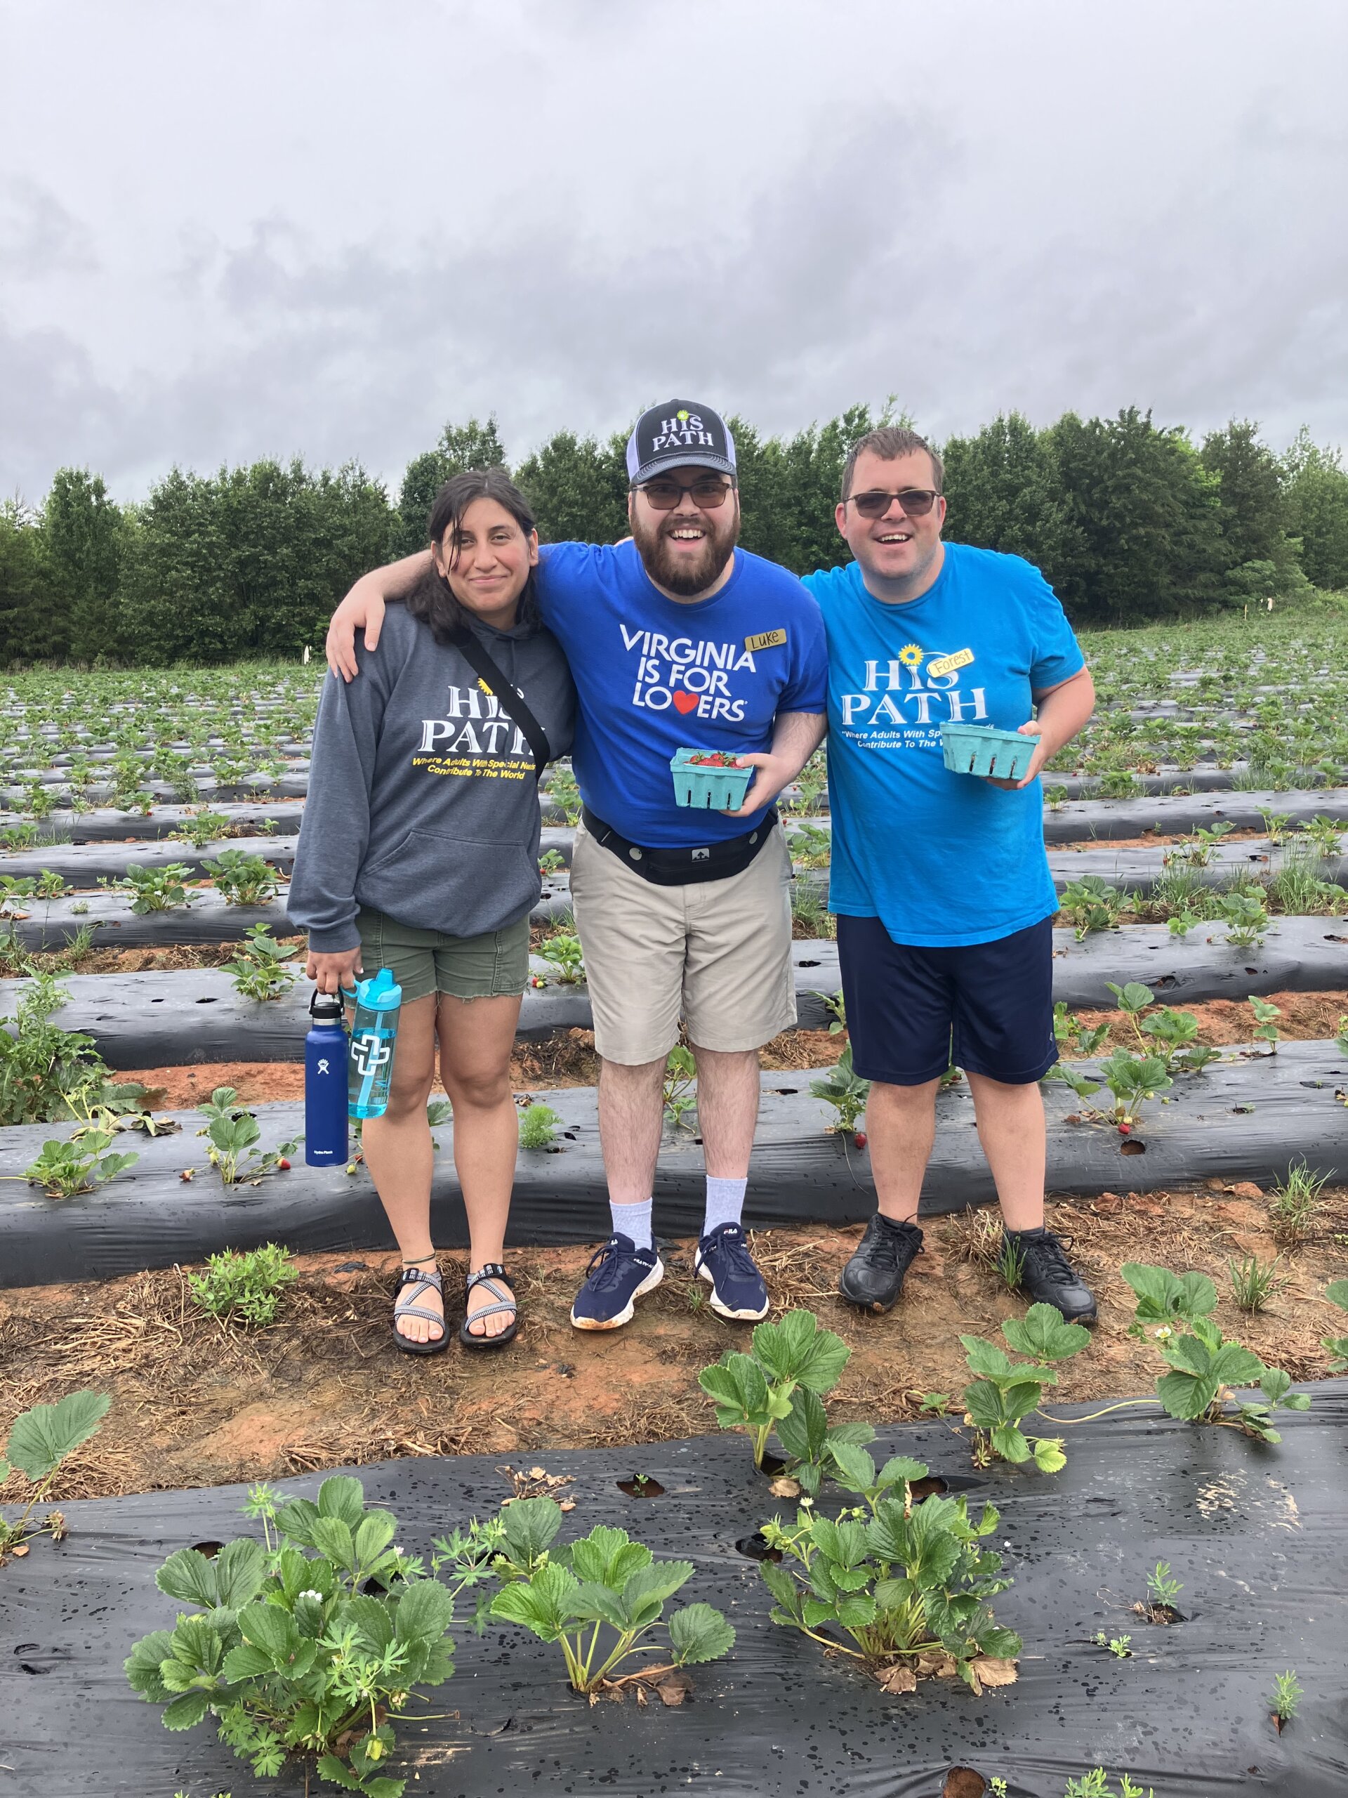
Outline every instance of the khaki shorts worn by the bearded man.
<path id="1" fill-rule="evenodd" d="M 581 823 L 572 854 L 595 1048 L 606 1061 L 663 1061 L 679 1018 L 699 1048 L 762 1048 L 796 1021 L 791 856 L 778 823 L 741 874 L 656 886 Z"/>

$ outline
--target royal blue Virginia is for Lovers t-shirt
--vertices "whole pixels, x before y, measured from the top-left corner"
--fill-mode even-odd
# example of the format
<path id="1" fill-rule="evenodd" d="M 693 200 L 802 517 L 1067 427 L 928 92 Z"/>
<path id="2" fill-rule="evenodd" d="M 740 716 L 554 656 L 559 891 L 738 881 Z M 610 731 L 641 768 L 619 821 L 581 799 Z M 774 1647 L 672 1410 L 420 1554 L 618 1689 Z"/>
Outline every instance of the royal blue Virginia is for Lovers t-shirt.
<path id="1" fill-rule="evenodd" d="M 823 712 L 823 620 L 796 575 L 735 550 L 719 593 L 679 602 L 634 543 L 550 543 L 537 590 L 581 701 L 572 768 L 586 806 L 647 849 L 753 831 L 766 809 L 676 806 L 669 764 L 676 750 L 767 750 L 778 712 Z"/>

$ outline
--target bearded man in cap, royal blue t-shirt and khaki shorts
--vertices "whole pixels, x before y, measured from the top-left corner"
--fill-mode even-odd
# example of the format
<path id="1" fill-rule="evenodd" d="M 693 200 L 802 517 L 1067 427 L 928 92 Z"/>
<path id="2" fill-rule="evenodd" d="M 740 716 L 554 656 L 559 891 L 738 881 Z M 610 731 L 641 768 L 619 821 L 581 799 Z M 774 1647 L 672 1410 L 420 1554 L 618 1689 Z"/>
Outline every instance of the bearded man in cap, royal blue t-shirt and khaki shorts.
<path id="1" fill-rule="evenodd" d="M 741 1212 L 758 1048 L 796 1021 L 791 856 L 771 807 L 818 748 L 827 703 L 820 608 L 796 575 L 737 548 L 735 444 L 721 415 L 683 399 L 652 406 L 627 442 L 627 476 L 633 536 L 545 545 L 537 568 L 539 611 L 579 701 L 572 762 L 584 814 L 572 901 L 613 1214 L 572 1307 L 584 1331 L 627 1323 L 663 1278 L 651 1192 L 679 1018 L 706 1156 L 696 1269 L 721 1316 L 767 1314 Z M 329 629 L 334 672 L 356 676 L 356 629 L 374 649 L 385 599 L 404 597 L 428 568 L 421 552 L 356 583 Z M 448 752 L 449 732 L 467 721 L 444 725 L 437 741 Z M 757 770 L 739 811 L 676 804 L 670 761 L 681 748 Z"/>

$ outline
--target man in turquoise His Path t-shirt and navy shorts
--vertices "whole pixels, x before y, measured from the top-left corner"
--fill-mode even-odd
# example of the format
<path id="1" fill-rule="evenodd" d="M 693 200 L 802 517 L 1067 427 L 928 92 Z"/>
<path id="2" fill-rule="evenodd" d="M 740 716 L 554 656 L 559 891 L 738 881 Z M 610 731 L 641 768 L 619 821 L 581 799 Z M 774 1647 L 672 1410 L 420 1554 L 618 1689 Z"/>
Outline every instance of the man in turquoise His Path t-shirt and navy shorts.
<path id="1" fill-rule="evenodd" d="M 1039 770 L 1087 723 L 1095 687 L 1037 568 L 942 543 L 942 475 L 915 432 L 870 432 L 836 512 L 856 561 L 805 577 L 829 636 L 829 908 L 854 1068 L 872 1082 L 879 1206 L 841 1291 L 874 1311 L 899 1298 L 922 1248 L 918 1196 L 953 1061 L 1024 1291 L 1091 1320 L 1091 1291 L 1044 1228 L 1037 1082 L 1057 1061 Z M 944 723 L 1037 737 L 1026 775 L 953 773 Z"/>

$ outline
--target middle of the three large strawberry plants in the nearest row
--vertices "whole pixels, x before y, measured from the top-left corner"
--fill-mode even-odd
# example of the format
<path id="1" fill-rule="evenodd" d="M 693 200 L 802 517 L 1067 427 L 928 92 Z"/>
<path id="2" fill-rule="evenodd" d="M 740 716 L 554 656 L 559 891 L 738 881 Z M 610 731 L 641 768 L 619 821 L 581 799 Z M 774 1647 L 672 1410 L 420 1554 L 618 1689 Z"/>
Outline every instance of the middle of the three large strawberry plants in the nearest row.
<path id="1" fill-rule="evenodd" d="M 491 1616 L 555 1642 L 575 1692 L 620 1690 L 730 1652 L 735 1631 L 710 1604 L 687 1604 L 663 1618 L 665 1602 L 692 1579 L 692 1561 L 656 1561 L 643 1543 L 602 1523 L 555 1548 L 561 1521 L 552 1498 L 525 1498 L 501 1510 L 505 1541 L 491 1570 L 503 1586 Z M 661 1624 L 667 1647 L 645 1640 Z M 624 1661 L 638 1654 L 667 1660 L 622 1674 Z"/>

